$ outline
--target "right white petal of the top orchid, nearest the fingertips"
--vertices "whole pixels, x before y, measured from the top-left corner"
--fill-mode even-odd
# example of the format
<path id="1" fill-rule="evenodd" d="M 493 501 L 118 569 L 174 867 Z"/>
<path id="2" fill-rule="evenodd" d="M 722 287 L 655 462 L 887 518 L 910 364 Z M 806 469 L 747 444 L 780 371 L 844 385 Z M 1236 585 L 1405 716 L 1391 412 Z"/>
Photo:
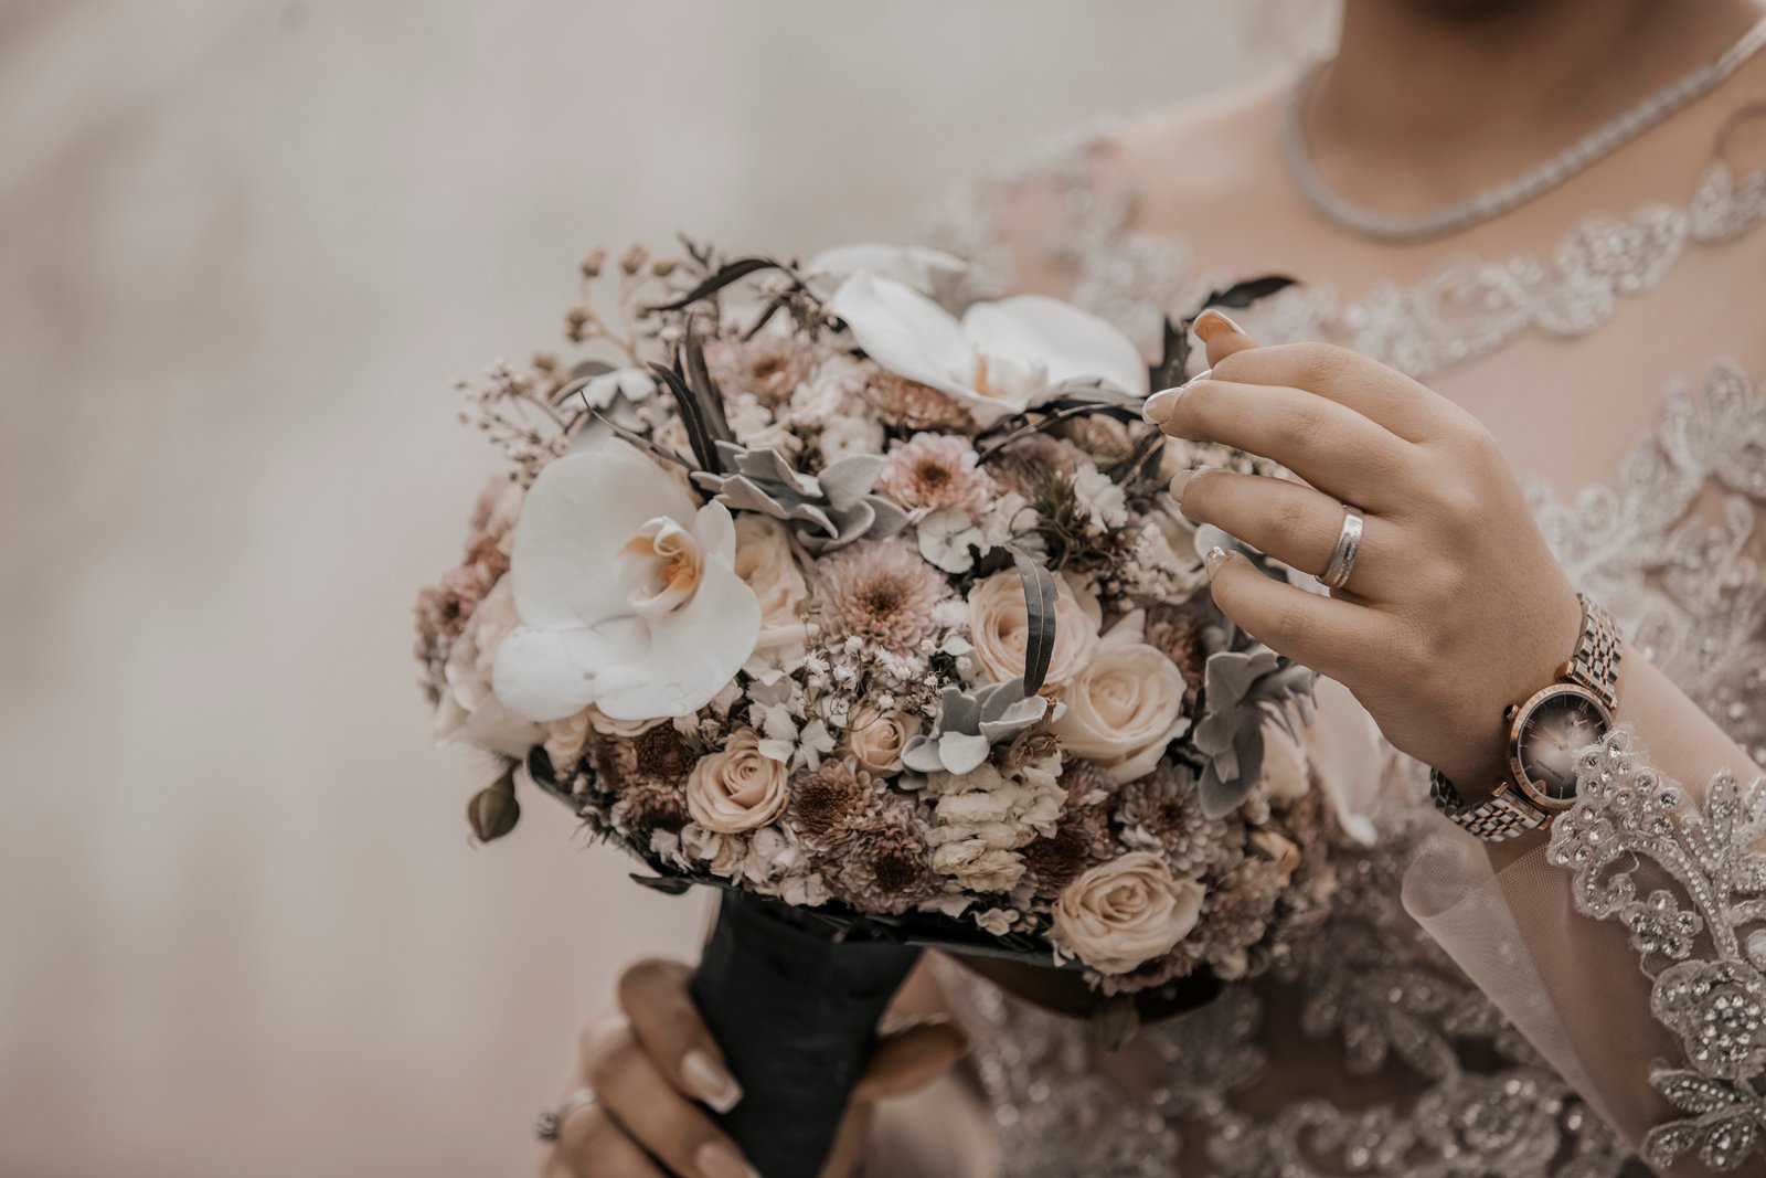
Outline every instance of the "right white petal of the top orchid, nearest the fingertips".
<path id="1" fill-rule="evenodd" d="M 1017 295 L 975 304 L 962 316 L 962 332 L 987 355 L 1045 366 L 1051 383 L 1095 378 L 1146 396 L 1146 360 L 1134 343 L 1098 316 L 1060 298 Z"/>

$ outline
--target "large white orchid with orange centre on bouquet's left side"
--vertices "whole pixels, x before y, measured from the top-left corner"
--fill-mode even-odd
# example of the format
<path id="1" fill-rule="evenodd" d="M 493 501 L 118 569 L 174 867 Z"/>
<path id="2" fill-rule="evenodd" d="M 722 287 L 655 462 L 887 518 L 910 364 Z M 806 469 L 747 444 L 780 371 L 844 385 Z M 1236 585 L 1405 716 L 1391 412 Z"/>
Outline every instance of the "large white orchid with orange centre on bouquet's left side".
<path id="1" fill-rule="evenodd" d="M 496 650 L 498 699 L 530 721 L 595 705 L 615 721 L 689 715 L 754 652 L 761 608 L 735 570 L 729 509 L 625 442 L 555 459 L 510 553 L 521 623 Z"/>

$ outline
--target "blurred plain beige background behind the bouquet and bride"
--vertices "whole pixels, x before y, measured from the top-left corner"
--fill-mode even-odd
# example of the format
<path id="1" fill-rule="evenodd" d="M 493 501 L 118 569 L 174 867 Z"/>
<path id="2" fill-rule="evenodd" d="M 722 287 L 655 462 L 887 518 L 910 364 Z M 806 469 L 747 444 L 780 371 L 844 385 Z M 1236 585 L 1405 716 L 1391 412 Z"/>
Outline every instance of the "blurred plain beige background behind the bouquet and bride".
<path id="1" fill-rule="evenodd" d="M 698 902 L 539 798 L 468 844 L 410 661 L 493 464 L 449 380 L 553 344 L 590 245 L 899 238 L 1256 19 L 0 2 L 0 1176 L 532 1173 Z"/>

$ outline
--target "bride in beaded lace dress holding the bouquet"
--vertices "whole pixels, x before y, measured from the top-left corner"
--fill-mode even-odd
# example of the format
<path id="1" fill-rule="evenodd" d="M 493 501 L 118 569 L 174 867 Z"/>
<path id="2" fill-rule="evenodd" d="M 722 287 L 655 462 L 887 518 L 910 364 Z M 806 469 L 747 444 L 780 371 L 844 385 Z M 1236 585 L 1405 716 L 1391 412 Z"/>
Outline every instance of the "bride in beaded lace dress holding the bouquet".
<path id="1" fill-rule="evenodd" d="M 830 1174 L 1766 1173 L 1762 44 L 1752 0 L 1346 0 L 1298 79 L 961 201 L 952 249 L 1150 348 L 1305 279 L 1146 417 L 1305 480 L 1173 495 L 1339 586 L 1208 558 L 1365 708 L 1317 735 L 1365 846 L 1287 968 L 1116 1053 L 1037 971 L 932 963 L 904 1005 L 950 1017 L 887 1037 Z M 685 977 L 585 1033 L 547 1174 L 752 1173 Z"/>

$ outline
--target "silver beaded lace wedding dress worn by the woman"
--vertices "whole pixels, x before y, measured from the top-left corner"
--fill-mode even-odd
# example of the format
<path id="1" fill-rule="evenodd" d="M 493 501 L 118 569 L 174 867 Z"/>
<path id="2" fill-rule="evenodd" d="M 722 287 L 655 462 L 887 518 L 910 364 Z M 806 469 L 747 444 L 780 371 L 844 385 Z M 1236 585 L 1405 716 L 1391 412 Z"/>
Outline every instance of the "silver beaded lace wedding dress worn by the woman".
<path id="1" fill-rule="evenodd" d="M 1007 249 L 1000 219 L 1040 187 L 1056 215 L 1037 265 L 1150 343 L 1210 281 L 1144 228 L 1132 185 L 1098 178 L 1113 136 L 977 185 L 940 244 L 1010 279 L 1024 242 Z M 1598 457 L 1621 431 L 1632 449 L 1581 493 L 1533 479 L 1538 519 L 1634 648 L 1766 763 L 1766 171 L 1706 157 L 1664 184 L 1678 201 L 1561 224 L 1556 253 L 1441 261 L 1353 300 L 1305 276 L 1243 320 L 1429 383 L 1469 366 L 1591 381 L 1588 445 L 1563 445 Z M 1639 321 L 1660 337 L 1642 344 Z M 1508 351 L 1524 355 L 1492 367 Z M 1664 366 L 1685 381 L 1664 390 Z M 1607 389 L 1628 390 L 1611 415 Z M 1642 440 L 1618 408 L 1637 399 L 1658 419 Z M 1589 754 L 1551 853 L 1501 871 L 1388 758 L 1379 839 L 1344 864 L 1330 922 L 1279 975 L 1123 1053 L 943 968 L 978 1038 L 1000 1173 L 1596 1178 L 1644 1173 L 1634 1150 L 1664 1173 L 1766 1173 L 1766 857 L 1750 853 L 1766 786 L 1676 797 L 1646 736 Z"/>

